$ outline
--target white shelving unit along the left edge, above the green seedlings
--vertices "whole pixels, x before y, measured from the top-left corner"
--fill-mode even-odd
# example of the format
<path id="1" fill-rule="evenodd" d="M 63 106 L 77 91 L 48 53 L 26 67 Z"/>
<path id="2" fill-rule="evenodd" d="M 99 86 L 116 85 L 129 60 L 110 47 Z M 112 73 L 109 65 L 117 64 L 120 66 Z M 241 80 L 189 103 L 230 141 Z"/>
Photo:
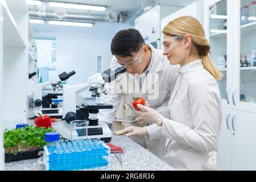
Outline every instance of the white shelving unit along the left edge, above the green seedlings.
<path id="1" fill-rule="evenodd" d="M 3 26 L 3 94 L 1 104 L 5 127 L 27 122 L 28 73 L 36 71 L 36 46 L 25 0 L 1 1 Z M 34 48 L 31 49 L 31 46 Z M 37 82 L 36 76 L 33 78 Z"/>

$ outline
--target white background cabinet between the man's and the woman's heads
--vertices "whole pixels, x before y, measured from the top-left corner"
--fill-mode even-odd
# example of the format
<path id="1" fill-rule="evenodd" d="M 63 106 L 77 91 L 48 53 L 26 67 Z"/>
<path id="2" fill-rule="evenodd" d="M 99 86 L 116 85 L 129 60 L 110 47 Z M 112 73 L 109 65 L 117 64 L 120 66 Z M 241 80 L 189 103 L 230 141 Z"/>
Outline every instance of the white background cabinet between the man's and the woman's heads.
<path id="1" fill-rule="evenodd" d="M 145 42 L 151 43 L 155 48 L 160 48 L 162 34 L 160 20 L 179 9 L 181 9 L 180 6 L 156 5 L 135 19 L 135 29 L 141 32 Z"/>

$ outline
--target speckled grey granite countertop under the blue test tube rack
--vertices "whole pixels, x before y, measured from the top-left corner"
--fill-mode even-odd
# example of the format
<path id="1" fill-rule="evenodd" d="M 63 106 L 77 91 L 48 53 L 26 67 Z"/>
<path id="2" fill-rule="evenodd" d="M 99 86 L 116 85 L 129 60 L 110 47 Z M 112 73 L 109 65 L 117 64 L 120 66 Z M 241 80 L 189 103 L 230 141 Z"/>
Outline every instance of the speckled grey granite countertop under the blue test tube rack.
<path id="1" fill-rule="evenodd" d="M 86 170 L 105 170 L 105 171 L 170 171 L 174 170 L 173 167 L 168 165 L 163 160 L 159 159 L 157 156 L 147 151 L 145 148 L 135 143 L 129 137 L 125 135 L 116 136 L 112 135 L 112 140 L 110 143 L 113 143 L 116 146 L 120 146 L 124 149 L 124 152 L 121 154 L 122 166 L 121 163 L 117 160 L 114 154 L 110 154 L 110 163 L 105 167 L 90 168 Z M 119 156 L 119 154 L 117 154 Z M 18 170 L 46 170 L 44 164 L 40 162 L 40 159 L 29 159 L 29 160 L 20 160 L 17 162 L 5 163 L 5 170 L 7 171 L 18 171 Z M 42 161 L 42 160 L 41 160 Z"/>

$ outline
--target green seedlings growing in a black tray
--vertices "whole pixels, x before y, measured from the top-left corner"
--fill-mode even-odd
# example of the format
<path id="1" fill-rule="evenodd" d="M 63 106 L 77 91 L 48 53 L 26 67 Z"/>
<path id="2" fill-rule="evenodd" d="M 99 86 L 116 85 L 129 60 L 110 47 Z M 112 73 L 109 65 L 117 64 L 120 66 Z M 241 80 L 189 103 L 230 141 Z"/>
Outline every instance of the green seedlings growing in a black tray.
<path id="1" fill-rule="evenodd" d="M 53 128 L 26 126 L 19 129 L 6 130 L 3 134 L 5 162 L 39 158 L 38 152 L 46 145 L 44 135 Z"/>

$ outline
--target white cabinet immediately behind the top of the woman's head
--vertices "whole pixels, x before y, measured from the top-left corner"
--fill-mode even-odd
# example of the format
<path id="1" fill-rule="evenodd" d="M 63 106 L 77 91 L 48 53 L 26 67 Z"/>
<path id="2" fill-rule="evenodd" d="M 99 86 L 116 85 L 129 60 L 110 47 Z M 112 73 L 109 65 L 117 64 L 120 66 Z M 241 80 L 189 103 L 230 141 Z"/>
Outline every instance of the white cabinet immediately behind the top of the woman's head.
<path id="1" fill-rule="evenodd" d="M 165 18 L 161 19 L 161 27 L 160 32 L 163 31 L 164 27 L 171 22 L 172 20 L 179 18 L 180 16 L 193 16 L 194 18 L 198 19 L 203 24 L 203 3 L 201 1 L 196 1 L 188 6 L 183 7 L 182 9 L 172 13 Z M 160 36 L 161 46 L 160 48 L 163 49 L 163 34 Z"/>

